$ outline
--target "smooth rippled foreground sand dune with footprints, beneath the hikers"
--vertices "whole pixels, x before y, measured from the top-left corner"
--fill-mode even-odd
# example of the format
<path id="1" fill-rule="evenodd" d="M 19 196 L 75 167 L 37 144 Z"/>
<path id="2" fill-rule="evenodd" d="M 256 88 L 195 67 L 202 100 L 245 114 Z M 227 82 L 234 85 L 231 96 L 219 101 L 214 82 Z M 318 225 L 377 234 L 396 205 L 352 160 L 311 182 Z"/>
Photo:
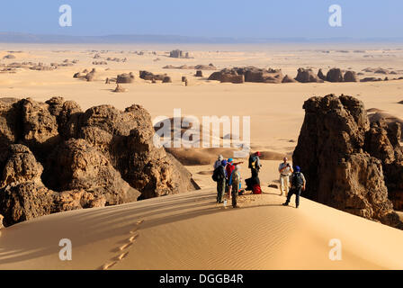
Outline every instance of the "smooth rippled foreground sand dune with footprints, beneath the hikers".
<path id="1" fill-rule="evenodd" d="M 237 210 L 218 206 L 210 188 L 22 222 L 2 230 L 0 269 L 403 268 L 400 230 L 305 199 L 282 207 L 276 193 L 246 194 Z M 61 238 L 72 261 L 58 259 Z M 331 238 L 341 261 L 329 260 Z"/>

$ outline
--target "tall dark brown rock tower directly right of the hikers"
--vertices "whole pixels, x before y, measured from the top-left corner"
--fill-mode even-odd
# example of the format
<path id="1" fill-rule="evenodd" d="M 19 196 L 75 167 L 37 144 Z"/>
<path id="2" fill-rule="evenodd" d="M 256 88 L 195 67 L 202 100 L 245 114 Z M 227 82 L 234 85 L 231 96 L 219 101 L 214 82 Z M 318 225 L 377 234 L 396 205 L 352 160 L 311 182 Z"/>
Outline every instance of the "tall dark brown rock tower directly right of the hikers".
<path id="1" fill-rule="evenodd" d="M 382 162 L 364 151 L 370 124 L 363 103 L 331 94 L 312 97 L 303 108 L 292 157 L 307 178 L 303 196 L 403 229 L 388 199 Z"/>

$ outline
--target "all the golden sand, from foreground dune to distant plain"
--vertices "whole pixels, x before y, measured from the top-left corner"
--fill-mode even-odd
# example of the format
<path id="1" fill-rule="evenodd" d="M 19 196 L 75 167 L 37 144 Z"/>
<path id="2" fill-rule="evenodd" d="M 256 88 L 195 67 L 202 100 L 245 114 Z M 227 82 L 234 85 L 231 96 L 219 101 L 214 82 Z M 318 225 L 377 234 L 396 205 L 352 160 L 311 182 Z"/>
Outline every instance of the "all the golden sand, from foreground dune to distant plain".
<path id="1" fill-rule="evenodd" d="M 171 49 L 184 49 L 193 58 L 168 58 Z M 329 67 L 353 69 L 390 68 L 403 76 L 403 45 L 287 45 L 287 46 L 208 46 L 208 45 L 22 45 L 1 44 L 0 64 L 12 62 L 62 63 L 79 60 L 73 67 L 52 71 L 19 69 L 0 73 L 0 97 L 31 97 L 46 101 L 62 96 L 79 103 L 82 109 L 112 104 L 124 109 L 133 103 L 143 105 L 153 118 L 182 115 L 250 116 L 253 150 L 291 155 L 303 121 L 302 104 L 310 96 L 349 94 L 363 101 L 367 109 L 376 108 L 403 118 L 403 80 L 368 83 L 324 84 L 220 84 L 207 81 L 213 71 L 194 77 L 194 70 L 163 69 L 166 65 L 208 65 L 223 67 L 282 68 L 283 74 L 296 76 L 298 67 L 317 72 Z M 9 50 L 16 58 L 3 59 Z M 101 58 L 94 55 L 101 50 Z M 145 51 L 144 55 L 133 51 Z M 329 53 L 324 53 L 328 50 Z M 357 51 L 358 50 L 358 51 Z M 152 54 L 156 51 L 157 55 Z M 128 58 L 125 63 L 93 61 L 107 57 Z M 156 61 L 156 59 L 159 60 Z M 73 74 L 95 67 L 98 78 L 85 82 Z M 166 73 L 171 84 L 151 84 L 139 79 L 139 70 Z M 113 93 L 115 84 L 105 85 L 106 77 L 133 72 L 134 84 L 122 85 L 126 93 Z M 187 76 L 184 86 L 181 77 Z M 374 76 L 365 73 L 365 76 Z M 363 77 L 363 76 L 362 76 Z M 384 77 L 384 75 L 377 75 Z M 197 164 L 197 163 L 194 163 Z M 267 187 L 276 181 L 277 158 L 263 161 L 261 181 L 264 194 L 245 195 L 242 209 L 224 209 L 214 203 L 211 165 L 187 168 L 202 190 L 166 196 L 121 206 L 58 213 L 23 222 L 1 231 L 0 269 L 365 269 L 403 268 L 397 229 L 363 220 L 309 200 L 299 210 L 284 208 L 278 190 Z M 244 178 L 249 175 L 242 166 Z M 138 221 L 144 220 L 139 225 Z M 138 229 L 137 231 L 132 231 Z M 130 231 L 133 234 L 130 234 Z M 139 235 L 138 238 L 136 236 Z M 45 237 L 46 236 L 46 237 Z M 135 238 L 131 238 L 135 236 Z M 73 242 L 73 261 L 58 259 L 58 241 Z M 331 238 L 343 244 L 343 260 L 330 261 Z M 130 244 L 128 247 L 124 247 Z M 122 247 L 122 249 L 119 249 Z M 129 252 L 127 255 L 124 254 Z M 117 258 L 116 258 L 117 257 Z M 123 258 L 120 260 L 119 258 Z M 113 263 L 116 264 L 113 265 Z M 109 266 L 112 264 L 112 266 Z"/>

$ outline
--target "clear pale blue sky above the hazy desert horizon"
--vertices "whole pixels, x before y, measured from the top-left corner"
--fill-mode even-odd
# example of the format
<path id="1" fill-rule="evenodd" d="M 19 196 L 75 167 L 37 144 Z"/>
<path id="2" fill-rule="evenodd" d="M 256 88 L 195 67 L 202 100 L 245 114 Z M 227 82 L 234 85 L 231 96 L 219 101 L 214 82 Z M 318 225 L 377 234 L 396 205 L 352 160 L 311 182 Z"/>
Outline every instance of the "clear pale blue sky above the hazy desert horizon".
<path id="1" fill-rule="evenodd" d="M 72 7 L 72 27 L 58 7 Z M 328 8 L 342 7 L 342 27 Z M 2 1 L 0 31 L 44 34 L 157 34 L 202 37 L 403 37 L 403 0 L 13 0 Z"/>

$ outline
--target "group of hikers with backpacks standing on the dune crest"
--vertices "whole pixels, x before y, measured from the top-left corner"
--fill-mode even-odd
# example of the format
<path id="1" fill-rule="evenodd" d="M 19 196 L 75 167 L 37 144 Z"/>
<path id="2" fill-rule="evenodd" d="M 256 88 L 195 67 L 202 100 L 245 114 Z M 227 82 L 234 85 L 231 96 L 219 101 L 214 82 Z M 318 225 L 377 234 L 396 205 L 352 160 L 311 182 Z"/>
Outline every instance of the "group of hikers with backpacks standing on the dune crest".
<path id="1" fill-rule="evenodd" d="M 214 163 L 214 172 L 212 179 L 217 182 L 217 202 L 224 202 L 225 194 L 228 199 L 232 199 L 232 207 L 239 208 L 237 205 L 237 196 L 252 191 L 254 194 L 262 193 L 259 180 L 259 172 L 262 167 L 260 152 L 250 155 L 248 160 L 248 168 L 251 171 L 251 177 L 245 180 L 246 188 L 242 188 L 242 178 L 240 175 L 240 164 L 244 162 L 234 162 L 233 158 L 224 159 L 219 155 Z M 283 162 L 279 166 L 280 173 L 280 191 L 287 197 L 286 202 L 282 205 L 288 206 L 291 196 L 295 194 L 296 208 L 300 206 L 300 193 L 306 188 L 305 176 L 300 172 L 300 166 L 292 167 L 288 162 L 288 158 L 284 157 Z"/>

